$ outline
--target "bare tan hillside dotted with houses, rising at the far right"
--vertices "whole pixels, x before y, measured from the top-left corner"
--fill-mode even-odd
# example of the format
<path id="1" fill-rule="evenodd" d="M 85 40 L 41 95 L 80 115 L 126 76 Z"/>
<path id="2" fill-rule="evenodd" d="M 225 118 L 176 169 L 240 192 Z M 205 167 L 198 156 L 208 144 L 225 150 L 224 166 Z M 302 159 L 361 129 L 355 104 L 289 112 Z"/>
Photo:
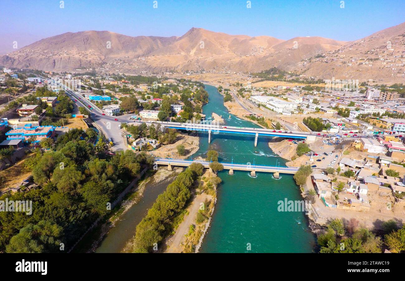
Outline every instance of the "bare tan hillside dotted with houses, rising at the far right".
<path id="1" fill-rule="evenodd" d="M 354 79 L 379 84 L 405 81 L 405 23 L 347 42 L 296 69 L 322 79 Z"/>

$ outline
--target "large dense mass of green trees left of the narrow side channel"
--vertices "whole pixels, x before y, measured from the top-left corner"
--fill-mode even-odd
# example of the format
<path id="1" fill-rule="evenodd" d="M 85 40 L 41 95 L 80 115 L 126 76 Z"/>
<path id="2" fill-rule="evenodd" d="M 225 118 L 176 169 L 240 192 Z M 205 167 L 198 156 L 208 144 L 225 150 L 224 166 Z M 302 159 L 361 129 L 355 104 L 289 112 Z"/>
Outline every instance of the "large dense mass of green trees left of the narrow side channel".
<path id="1" fill-rule="evenodd" d="M 150 156 L 132 151 L 100 159 L 91 131 L 73 129 L 61 136 L 54 148 L 39 150 L 25 161 L 37 188 L 5 194 L 0 200 L 32 200 L 32 214 L 0 212 L 0 251 L 59 252 L 68 250 L 84 231 L 109 212 L 115 200 L 141 170 L 152 165 Z"/>

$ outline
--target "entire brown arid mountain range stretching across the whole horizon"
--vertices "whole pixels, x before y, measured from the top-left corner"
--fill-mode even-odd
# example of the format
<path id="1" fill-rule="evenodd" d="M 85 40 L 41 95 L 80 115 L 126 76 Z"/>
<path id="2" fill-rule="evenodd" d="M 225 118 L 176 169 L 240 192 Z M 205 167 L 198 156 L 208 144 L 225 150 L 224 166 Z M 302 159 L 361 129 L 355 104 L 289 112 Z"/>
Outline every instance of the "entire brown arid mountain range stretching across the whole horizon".
<path id="1" fill-rule="evenodd" d="M 109 31 L 68 32 L 4 55 L 0 57 L 0 65 L 47 71 L 96 69 L 122 73 L 203 69 L 261 71 L 277 66 L 324 79 L 375 79 L 368 78 L 369 70 L 392 78 L 395 75 L 388 65 L 403 69 L 404 33 L 405 23 L 354 42 L 322 37 L 296 37 L 284 41 L 195 27 L 181 37 L 168 38 L 130 37 Z M 387 48 L 388 41 L 394 50 Z M 370 67 L 370 60 L 374 62 L 373 67 Z M 378 68 L 375 67 L 377 60 Z M 392 67 L 392 62 L 396 67 Z"/>

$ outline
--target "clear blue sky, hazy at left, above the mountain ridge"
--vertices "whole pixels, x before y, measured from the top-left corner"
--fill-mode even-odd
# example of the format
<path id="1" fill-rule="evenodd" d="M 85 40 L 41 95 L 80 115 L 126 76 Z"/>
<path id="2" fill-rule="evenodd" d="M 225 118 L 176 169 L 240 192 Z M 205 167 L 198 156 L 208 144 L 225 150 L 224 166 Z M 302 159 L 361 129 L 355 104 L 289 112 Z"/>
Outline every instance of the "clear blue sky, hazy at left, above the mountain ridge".
<path id="1" fill-rule="evenodd" d="M 405 21 L 405 0 L 0 0 L 1 34 L 33 39 L 109 30 L 130 36 L 181 36 L 191 27 L 280 39 L 356 40 Z M 28 35 L 27 35 L 28 36 Z M 1 39 L 1 38 L 0 38 Z M 27 38 L 28 39 L 28 38 Z"/>

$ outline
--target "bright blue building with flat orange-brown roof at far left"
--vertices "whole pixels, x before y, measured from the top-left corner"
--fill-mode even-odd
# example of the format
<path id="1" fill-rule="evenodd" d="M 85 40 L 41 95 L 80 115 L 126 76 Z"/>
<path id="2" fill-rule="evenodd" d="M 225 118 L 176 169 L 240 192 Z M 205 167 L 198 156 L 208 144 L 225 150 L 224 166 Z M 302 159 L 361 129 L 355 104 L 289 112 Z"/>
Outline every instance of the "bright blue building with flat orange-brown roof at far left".
<path id="1" fill-rule="evenodd" d="M 43 138 L 53 138 L 55 136 L 54 126 L 32 126 L 26 124 L 21 128 L 13 128 L 6 132 L 8 140 L 21 139 L 23 142 L 39 143 Z"/>

